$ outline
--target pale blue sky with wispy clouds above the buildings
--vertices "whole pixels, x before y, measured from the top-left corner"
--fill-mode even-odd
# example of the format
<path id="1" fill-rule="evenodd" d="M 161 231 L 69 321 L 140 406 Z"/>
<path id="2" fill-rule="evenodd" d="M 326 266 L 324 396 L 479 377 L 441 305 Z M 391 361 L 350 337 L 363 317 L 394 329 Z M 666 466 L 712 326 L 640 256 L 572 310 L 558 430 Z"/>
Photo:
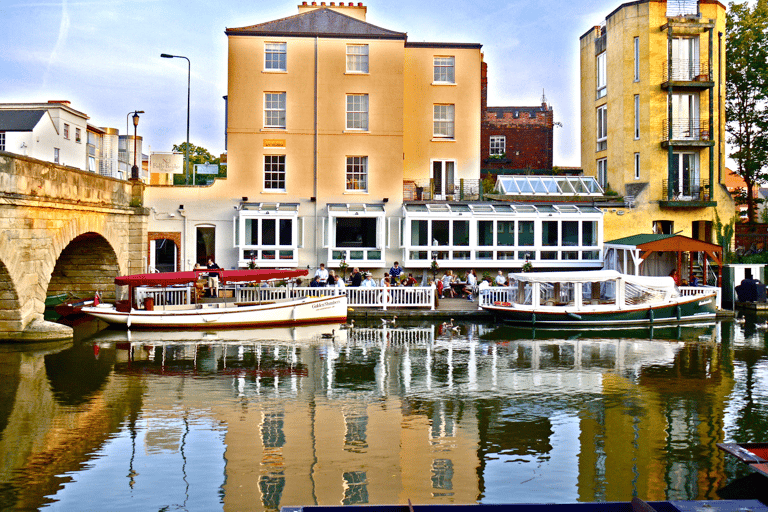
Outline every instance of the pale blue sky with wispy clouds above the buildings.
<path id="1" fill-rule="evenodd" d="M 298 13 L 297 0 L 0 0 L 0 103 L 68 100 L 125 133 L 143 110 L 144 153 L 186 140 L 224 152 L 228 27 Z M 318 1 L 318 4 L 320 2 Z M 330 2 L 327 2 L 330 3 Z M 357 2 L 355 2 L 357 3 Z M 480 43 L 488 106 L 552 106 L 554 164 L 580 166 L 579 37 L 618 0 L 364 0 L 367 21 L 412 42 Z M 130 126 L 133 134 L 133 126 Z"/>

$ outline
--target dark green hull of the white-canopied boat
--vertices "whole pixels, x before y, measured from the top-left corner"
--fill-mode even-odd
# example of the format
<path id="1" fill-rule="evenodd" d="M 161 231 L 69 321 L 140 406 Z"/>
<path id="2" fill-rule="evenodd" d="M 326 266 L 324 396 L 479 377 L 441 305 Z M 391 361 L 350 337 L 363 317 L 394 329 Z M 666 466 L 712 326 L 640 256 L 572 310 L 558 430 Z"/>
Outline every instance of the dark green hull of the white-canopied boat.
<path id="1" fill-rule="evenodd" d="M 532 309 L 516 305 L 487 305 L 483 309 L 516 325 L 579 329 L 586 326 L 658 325 L 710 320 L 715 318 L 717 312 L 715 300 L 716 296 L 712 294 L 681 297 L 680 300 L 654 306 L 628 306 L 622 309 L 594 306 L 577 311 L 575 308 L 559 306 Z"/>

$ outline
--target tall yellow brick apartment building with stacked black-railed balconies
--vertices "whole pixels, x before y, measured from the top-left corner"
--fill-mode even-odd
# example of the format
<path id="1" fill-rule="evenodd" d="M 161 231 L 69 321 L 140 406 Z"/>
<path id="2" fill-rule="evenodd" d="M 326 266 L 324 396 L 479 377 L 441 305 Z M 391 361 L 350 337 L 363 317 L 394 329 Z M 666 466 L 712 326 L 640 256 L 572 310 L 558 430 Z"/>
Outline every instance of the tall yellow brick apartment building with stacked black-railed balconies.
<path id="1" fill-rule="evenodd" d="M 715 0 L 620 5 L 580 40 L 581 163 L 625 199 L 605 240 L 681 233 L 717 242 L 724 186 L 725 7 Z"/>

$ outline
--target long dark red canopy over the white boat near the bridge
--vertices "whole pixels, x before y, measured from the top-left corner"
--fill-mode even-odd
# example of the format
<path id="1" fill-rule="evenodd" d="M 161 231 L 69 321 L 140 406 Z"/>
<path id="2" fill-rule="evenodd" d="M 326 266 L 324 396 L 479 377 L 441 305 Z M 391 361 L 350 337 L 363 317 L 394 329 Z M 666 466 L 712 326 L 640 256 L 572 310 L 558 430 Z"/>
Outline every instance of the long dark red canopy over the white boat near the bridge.
<path id="1" fill-rule="evenodd" d="M 173 284 L 193 283 L 200 274 L 218 275 L 221 284 L 237 282 L 260 282 L 270 279 L 291 279 L 306 276 L 308 270 L 284 269 L 254 269 L 254 270 L 190 270 L 187 272 L 157 272 L 154 274 L 134 274 L 132 276 L 117 276 L 115 284 L 123 286 L 170 286 Z"/>

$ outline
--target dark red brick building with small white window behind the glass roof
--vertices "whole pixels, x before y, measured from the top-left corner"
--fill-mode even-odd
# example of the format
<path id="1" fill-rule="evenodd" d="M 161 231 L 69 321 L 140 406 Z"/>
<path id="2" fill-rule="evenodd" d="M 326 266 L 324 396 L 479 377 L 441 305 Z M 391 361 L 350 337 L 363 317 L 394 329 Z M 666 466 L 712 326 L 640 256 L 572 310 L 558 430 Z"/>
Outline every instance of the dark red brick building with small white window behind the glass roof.
<path id="1" fill-rule="evenodd" d="M 482 65 L 480 155 L 483 174 L 552 171 L 554 114 L 546 100 L 535 107 L 489 107 L 488 68 Z M 508 172 L 506 172 L 508 173 Z"/>

